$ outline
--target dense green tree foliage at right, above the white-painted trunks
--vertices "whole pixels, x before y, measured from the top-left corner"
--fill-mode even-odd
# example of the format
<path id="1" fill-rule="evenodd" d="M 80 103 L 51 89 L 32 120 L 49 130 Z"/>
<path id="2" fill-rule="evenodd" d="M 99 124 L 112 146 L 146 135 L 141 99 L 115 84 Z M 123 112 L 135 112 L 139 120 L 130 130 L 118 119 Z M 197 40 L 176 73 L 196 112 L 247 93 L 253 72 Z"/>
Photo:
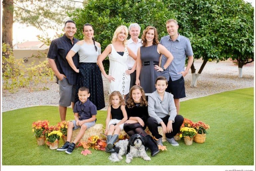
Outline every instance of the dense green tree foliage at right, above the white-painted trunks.
<path id="1" fill-rule="evenodd" d="M 250 3 L 243 0 L 164 1 L 176 13 L 179 32 L 191 40 L 194 57 L 203 59 L 198 73 L 208 60 L 218 62 L 231 57 L 241 60 L 241 66 L 253 60 L 254 13 Z M 191 69 L 194 73 L 193 65 Z"/>

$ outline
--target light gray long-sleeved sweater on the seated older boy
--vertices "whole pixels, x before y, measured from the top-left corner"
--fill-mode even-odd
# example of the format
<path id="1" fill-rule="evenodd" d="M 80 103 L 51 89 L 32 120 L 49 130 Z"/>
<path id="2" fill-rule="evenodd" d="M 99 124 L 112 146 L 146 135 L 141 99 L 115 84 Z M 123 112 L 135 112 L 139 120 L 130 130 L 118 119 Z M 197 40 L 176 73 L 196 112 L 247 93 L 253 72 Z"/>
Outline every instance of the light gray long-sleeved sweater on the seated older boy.
<path id="1" fill-rule="evenodd" d="M 160 124 L 163 121 L 161 118 L 170 115 L 169 121 L 174 119 L 177 115 L 173 95 L 171 93 L 165 92 L 163 101 L 161 100 L 157 91 L 149 94 L 148 96 L 148 114 L 157 120 Z"/>

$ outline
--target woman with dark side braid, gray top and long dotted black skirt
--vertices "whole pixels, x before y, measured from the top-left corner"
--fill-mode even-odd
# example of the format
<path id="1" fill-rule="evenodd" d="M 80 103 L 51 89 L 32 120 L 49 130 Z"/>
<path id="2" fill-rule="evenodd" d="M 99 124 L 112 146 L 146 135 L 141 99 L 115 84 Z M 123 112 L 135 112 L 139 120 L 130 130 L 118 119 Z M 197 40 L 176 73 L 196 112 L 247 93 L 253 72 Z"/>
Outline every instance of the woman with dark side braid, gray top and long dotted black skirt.
<path id="1" fill-rule="evenodd" d="M 100 43 L 96 42 L 93 38 L 93 27 L 86 23 L 83 25 L 82 41 L 77 42 L 67 53 L 66 59 L 71 68 L 79 73 L 76 84 L 75 102 L 78 99 L 78 89 L 80 87 L 87 87 L 90 92 L 89 100 L 100 110 L 105 107 L 103 82 L 101 71 L 96 64 L 98 55 L 101 54 Z M 72 57 L 75 53 L 79 54 L 79 69 L 74 65 Z"/>

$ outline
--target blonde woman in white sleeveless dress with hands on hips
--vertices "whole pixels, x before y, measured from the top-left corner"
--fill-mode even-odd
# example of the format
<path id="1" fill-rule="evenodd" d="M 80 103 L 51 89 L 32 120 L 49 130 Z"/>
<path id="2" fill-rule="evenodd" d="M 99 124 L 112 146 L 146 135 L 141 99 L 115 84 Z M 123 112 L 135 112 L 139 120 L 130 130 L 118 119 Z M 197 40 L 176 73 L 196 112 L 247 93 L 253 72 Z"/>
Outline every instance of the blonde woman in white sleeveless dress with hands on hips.
<path id="1" fill-rule="evenodd" d="M 113 91 L 119 91 L 125 99 L 130 88 L 130 74 L 135 71 L 137 65 L 137 56 L 127 47 L 128 29 L 126 26 L 119 26 L 114 33 L 112 43 L 98 56 L 97 64 L 104 75 L 108 79 L 109 94 Z M 131 70 L 128 70 L 126 64 L 128 55 L 136 62 Z M 106 74 L 102 61 L 109 57 L 109 72 Z"/>

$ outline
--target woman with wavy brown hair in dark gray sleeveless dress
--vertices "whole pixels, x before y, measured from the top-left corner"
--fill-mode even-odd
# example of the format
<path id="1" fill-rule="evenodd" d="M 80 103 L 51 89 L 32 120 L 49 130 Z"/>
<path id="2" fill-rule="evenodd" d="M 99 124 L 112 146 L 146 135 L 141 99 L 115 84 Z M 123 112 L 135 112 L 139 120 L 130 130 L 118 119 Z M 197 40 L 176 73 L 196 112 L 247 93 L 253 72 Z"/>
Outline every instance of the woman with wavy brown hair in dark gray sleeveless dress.
<path id="1" fill-rule="evenodd" d="M 156 78 L 161 76 L 161 71 L 171 64 L 173 55 L 162 44 L 159 44 L 155 27 L 148 26 L 143 31 L 141 39 L 142 46 L 137 51 L 136 85 L 140 85 L 145 93 L 153 93 L 156 90 Z M 159 60 L 162 54 L 168 59 L 161 68 Z"/>

